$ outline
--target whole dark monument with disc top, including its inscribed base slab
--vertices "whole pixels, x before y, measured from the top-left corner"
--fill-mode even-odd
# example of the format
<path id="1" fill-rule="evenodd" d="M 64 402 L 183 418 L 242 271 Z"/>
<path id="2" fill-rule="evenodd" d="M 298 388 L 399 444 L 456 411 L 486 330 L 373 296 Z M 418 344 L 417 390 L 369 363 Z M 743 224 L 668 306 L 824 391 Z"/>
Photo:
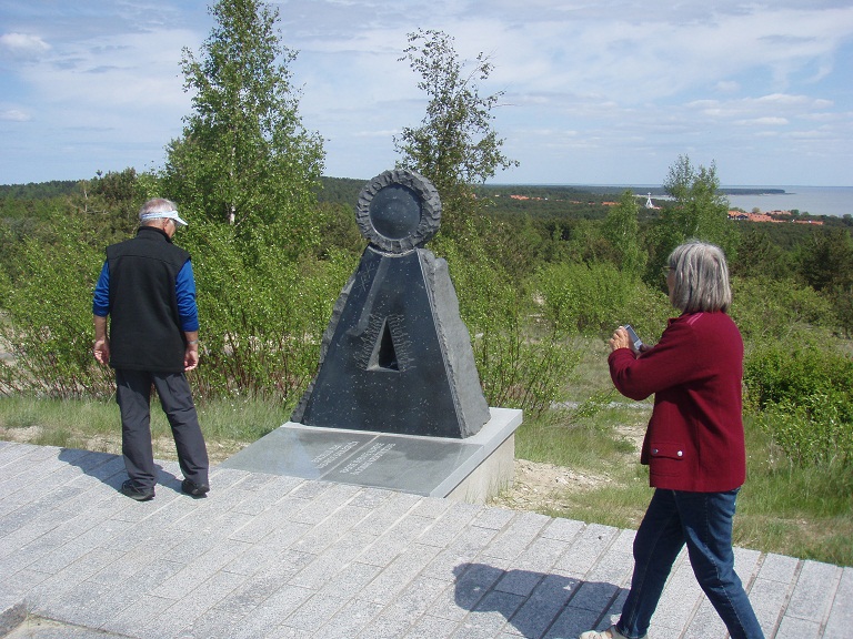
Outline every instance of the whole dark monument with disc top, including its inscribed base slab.
<path id="1" fill-rule="evenodd" d="M 413 171 L 359 195 L 369 241 L 291 420 L 221 464 L 484 503 L 512 483 L 516 409 L 489 407 L 448 264 L 423 244 L 441 200 Z"/>

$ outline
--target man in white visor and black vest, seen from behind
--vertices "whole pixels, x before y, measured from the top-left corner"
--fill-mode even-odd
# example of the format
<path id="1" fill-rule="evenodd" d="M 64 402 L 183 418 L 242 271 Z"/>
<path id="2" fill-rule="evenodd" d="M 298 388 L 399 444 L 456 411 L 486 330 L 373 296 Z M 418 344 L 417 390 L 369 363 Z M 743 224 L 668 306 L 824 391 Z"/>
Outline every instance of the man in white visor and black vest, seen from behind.
<path id="1" fill-rule="evenodd" d="M 181 488 L 193 497 L 209 490 L 208 450 L 184 372 L 199 364 L 199 314 L 190 254 L 172 244 L 187 222 L 173 202 L 149 200 L 139 212 L 137 236 L 107 247 L 94 288 L 94 358 L 116 369 L 121 448 L 129 479 L 121 491 L 138 501 L 154 497 L 151 386 L 172 427 Z M 107 332 L 107 317 L 110 331 Z"/>

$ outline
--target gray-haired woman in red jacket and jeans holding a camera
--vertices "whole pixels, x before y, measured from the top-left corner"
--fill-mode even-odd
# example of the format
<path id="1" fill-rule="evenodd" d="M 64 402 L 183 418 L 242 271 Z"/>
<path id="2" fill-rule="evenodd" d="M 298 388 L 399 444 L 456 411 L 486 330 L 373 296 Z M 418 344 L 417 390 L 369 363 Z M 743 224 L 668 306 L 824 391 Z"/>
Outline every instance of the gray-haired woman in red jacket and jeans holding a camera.
<path id="1" fill-rule="evenodd" d="M 763 637 L 734 572 L 732 518 L 746 477 L 741 378 L 743 341 L 731 304 L 723 252 L 702 242 L 669 258 L 670 320 L 655 346 L 634 351 L 625 328 L 610 339 L 616 389 L 632 399 L 654 393 L 641 453 L 655 489 L 634 539 L 631 590 L 615 626 L 581 639 L 645 637 L 673 562 L 686 544 L 693 572 L 733 639 Z"/>

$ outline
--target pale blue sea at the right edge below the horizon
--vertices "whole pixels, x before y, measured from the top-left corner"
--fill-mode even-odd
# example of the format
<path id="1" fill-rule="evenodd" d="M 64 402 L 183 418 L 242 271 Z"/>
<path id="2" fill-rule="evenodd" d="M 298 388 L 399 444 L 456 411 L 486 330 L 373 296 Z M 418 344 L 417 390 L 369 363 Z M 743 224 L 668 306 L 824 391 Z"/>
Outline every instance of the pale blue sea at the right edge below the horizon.
<path id="1" fill-rule="evenodd" d="M 784 189 L 765 195 L 726 195 L 729 204 L 752 211 L 791 211 L 811 215 L 853 215 L 853 186 L 721 186 L 722 189 Z"/>

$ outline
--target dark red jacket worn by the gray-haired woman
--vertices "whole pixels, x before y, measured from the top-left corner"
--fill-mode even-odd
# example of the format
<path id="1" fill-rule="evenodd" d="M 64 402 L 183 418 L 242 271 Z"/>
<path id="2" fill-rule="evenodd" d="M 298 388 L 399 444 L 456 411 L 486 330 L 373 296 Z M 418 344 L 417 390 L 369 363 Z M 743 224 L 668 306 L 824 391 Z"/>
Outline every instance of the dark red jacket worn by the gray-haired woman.
<path id="1" fill-rule="evenodd" d="M 608 363 L 626 397 L 654 393 L 640 458 L 651 486 L 720 493 L 743 485 L 743 339 L 729 315 L 685 313 L 650 351 L 619 348 Z"/>

